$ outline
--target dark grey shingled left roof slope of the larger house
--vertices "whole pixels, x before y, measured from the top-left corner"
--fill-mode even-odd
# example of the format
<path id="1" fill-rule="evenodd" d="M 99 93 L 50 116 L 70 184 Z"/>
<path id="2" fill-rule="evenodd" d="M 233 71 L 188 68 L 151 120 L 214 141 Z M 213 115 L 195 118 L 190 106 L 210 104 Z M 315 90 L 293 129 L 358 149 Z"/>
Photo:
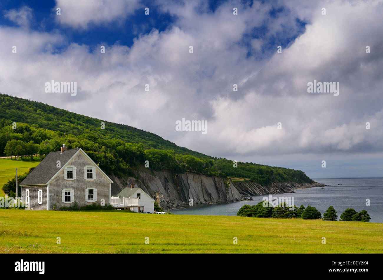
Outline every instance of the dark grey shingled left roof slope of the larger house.
<path id="1" fill-rule="evenodd" d="M 31 173 L 20 183 L 20 186 L 25 185 L 46 185 L 51 178 L 60 170 L 57 168 L 57 160 L 60 160 L 63 167 L 80 149 L 66 150 L 61 154 L 61 151 L 50 152 Z"/>

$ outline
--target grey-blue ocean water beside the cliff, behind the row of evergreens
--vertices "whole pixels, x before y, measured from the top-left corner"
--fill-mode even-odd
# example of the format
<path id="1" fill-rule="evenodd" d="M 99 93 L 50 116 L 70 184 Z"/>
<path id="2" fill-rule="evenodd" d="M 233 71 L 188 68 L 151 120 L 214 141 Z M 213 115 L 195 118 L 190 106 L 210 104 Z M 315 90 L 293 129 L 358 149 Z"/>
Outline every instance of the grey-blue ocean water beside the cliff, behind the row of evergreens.
<path id="1" fill-rule="evenodd" d="M 354 208 L 357 212 L 367 210 L 371 221 L 383 223 L 383 178 L 329 178 L 313 179 L 327 185 L 322 188 L 297 189 L 295 193 L 273 194 L 272 196 L 294 197 L 294 204 L 299 207 L 308 205 L 316 207 L 322 215 L 331 205 L 335 208 L 338 219 L 346 208 Z M 341 184 L 341 185 L 338 185 Z M 265 195 L 268 197 L 268 195 Z M 254 205 L 262 201 L 264 196 L 253 196 L 253 201 L 231 203 L 204 204 L 188 206 L 186 209 L 171 210 L 177 215 L 226 215 L 235 216 L 244 204 Z M 370 199 L 370 206 L 366 206 Z"/>

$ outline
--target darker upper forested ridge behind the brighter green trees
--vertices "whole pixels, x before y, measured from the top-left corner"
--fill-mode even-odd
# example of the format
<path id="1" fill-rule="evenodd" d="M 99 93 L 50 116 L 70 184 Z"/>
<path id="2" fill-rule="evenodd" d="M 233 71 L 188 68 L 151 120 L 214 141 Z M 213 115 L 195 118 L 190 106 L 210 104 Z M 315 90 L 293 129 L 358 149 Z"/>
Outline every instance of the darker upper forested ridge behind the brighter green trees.
<path id="1" fill-rule="evenodd" d="M 62 131 L 62 136 L 64 136 L 64 132 L 66 135 L 72 134 L 74 136 L 92 133 L 101 137 L 142 144 L 144 149 L 172 150 L 177 154 L 207 157 L 201 153 L 179 147 L 149 131 L 134 128 L 133 126 L 110 123 L 106 120 L 98 120 L 41 102 L 0 93 L 0 104 L 0 118 L 27 123 L 28 125 L 38 125 L 40 128 L 52 131 Z M 106 129 L 100 129 L 101 122 L 105 123 Z M 0 151 L 0 153 L 2 152 L 3 150 Z"/>

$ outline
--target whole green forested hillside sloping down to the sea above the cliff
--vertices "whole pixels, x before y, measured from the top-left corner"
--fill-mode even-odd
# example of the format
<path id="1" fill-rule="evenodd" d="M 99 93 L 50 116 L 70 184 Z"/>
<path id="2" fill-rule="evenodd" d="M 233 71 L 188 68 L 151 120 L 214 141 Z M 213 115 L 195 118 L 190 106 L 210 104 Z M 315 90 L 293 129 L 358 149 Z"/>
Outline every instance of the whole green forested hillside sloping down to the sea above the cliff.
<path id="1" fill-rule="evenodd" d="M 66 144 L 68 149 L 82 148 L 107 174 L 116 176 L 137 176 L 148 160 L 154 170 L 244 178 L 262 185 L 314 182 L 301 170 L 242 162 L 234 168 L 231 160 L 179 147 L 154 133 L 41 102 L 0 94 L 0 104 L 0 154 L 4 155 L 43 158 Z M 101 122 L 106 129 L 100 129 Z"/>

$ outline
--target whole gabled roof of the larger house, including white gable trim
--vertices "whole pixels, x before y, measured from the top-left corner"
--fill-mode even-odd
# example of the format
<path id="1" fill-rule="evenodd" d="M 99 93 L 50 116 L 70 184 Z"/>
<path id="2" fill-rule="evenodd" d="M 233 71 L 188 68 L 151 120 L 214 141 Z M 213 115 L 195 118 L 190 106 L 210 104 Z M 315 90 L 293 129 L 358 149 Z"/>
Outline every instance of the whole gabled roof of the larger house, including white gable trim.
<path id="1" fill-rule="evenodd" d="M 65 165 L 78 153 L 81 153 L 92 165 L 96 167 L 98 172 L 101 173 L 110 183 L 112 180 L 102 171 L 100 167 L 81 149 L 66 150 L 61 153 L 50 152 L 40 163 L 36 166 L 31 173 L 20 183 L 20 186 L 29 185 L 47 185 L 49 184 L 60 172 L 64 169 Z M 61 168 L 56 167 L 57 160 L 60 160 Z"/>

